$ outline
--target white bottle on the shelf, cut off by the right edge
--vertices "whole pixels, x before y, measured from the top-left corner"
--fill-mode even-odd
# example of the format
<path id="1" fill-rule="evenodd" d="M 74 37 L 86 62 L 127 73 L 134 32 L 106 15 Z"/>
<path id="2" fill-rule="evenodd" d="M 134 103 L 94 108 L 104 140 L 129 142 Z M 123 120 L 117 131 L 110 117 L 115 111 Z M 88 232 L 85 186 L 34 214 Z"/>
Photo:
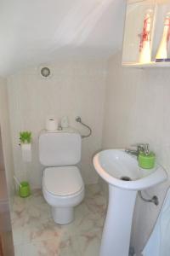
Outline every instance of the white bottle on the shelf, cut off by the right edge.
<path id="1" fill-rule="evenodd" d="M 161 43 L 156 53 L 156 61 L 164 61 L 167 59 L 167 45 L 169 43 L 170 36 L 170 13 L 167 13 L 165 21 L 163 34 L 161 38 Z"/>

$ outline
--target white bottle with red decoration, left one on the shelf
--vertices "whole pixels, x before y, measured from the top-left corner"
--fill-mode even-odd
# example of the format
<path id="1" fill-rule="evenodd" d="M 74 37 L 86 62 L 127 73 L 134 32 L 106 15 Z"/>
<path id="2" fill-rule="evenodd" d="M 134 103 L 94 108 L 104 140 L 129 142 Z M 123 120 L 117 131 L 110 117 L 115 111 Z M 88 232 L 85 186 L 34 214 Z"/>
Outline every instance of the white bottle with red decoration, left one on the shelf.
<path id="1" fill-rule="evenodd" d="M 151 10 L 147 10 L 144 16 L 144 27 L 141 34 L 139 46 L 139 63 L 148 63 L 151 60 L 150 53 L 150 23 L 151 23 Z"/>

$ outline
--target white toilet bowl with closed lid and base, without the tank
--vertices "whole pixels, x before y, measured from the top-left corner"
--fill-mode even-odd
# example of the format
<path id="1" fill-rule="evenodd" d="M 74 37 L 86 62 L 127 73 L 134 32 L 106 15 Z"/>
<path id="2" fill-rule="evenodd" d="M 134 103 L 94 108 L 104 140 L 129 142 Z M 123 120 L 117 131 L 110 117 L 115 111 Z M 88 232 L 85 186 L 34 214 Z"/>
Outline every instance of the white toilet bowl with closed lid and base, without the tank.
<path id="1" fill-rule="evenodd" d="M 77 166 L 46 168 L 42 177 L 42 193 L 52 207 L 54 222 L 71 223 L 74 207 L 84 198 L 84 183 Z"/>

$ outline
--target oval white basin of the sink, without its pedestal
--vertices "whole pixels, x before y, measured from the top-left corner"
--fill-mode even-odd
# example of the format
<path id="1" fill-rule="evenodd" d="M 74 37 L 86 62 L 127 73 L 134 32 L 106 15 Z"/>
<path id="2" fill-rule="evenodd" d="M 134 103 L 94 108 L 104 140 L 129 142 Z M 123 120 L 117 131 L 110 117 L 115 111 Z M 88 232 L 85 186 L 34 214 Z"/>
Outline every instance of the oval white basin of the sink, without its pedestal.
<path id="1" fill-rule="evenodd" d="M 167 178 L 167 173 L 162 166 L 156 164 L 153 169 L 142 169 L 135 156 L 121 149 L 99 152 L 94 156 L 94 167 L 107 183 L 121 189 L 147 189 Z M 129 181 L 127 181 L 128 177 Z"/>

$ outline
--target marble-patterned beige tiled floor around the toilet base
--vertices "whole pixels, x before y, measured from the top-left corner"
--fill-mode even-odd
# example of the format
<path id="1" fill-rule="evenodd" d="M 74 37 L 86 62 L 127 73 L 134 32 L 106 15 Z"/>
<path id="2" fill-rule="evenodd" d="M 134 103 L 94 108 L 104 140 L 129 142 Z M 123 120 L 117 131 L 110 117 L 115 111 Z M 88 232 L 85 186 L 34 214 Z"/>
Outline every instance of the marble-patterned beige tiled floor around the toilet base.
<path id="1" fill-rule="evenodd" d="M 86 187 L 68 225 L 54 223 L 40 190 L 26 199 L 16 196 L 11 216 L 15 256 L 99 256 L 106 208 L 100 190 L 99 185 Z"/>

